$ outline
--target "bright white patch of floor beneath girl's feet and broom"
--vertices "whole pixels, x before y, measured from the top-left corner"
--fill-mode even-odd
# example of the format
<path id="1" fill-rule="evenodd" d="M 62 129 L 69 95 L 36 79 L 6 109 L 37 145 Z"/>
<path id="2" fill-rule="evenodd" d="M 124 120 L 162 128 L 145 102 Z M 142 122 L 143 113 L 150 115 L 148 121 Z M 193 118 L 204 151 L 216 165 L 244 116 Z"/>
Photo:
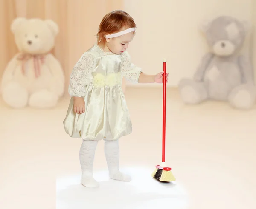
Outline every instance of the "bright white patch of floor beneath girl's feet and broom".
<path id="1" fill-rule="evenodd" d="M 133 176 L 130 183 L 109 180 L 106 171 L 97 171 L 95 178 L 100 182 L 100 188 L 94 189 L 81 186 L 80 175 L 58 178 L 56 208 L 147 209 L 168 206 L 170 201 L 175 209 L 187 208 L 188 197 L 181 185 L 153 181 L 150 168 L 127 167 L 122 170 Z"/>

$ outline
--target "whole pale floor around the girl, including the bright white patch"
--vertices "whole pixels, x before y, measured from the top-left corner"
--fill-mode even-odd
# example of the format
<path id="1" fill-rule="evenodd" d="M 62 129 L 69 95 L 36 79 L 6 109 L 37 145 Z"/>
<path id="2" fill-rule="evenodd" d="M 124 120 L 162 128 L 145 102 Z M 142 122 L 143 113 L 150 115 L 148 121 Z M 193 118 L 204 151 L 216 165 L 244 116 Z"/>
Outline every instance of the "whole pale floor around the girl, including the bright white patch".
<path id="1" fill-rule="evenodd" d="M 12 110 L 1 102 L 0 208 L 256 208 L 256 108 L 186 106 L 168 89 L 166 162 L 176 181 L 163 184 L 150 176 L 161 162 L 162 89 L 129 88 L 125 94 L 134 131 L 120 141 L 120 169 L 133 181 L 108 180 L 101 141 L 96 189 L 79 182 L 81 141 L 62 124 L 68 98 L 54 110 Z"/>

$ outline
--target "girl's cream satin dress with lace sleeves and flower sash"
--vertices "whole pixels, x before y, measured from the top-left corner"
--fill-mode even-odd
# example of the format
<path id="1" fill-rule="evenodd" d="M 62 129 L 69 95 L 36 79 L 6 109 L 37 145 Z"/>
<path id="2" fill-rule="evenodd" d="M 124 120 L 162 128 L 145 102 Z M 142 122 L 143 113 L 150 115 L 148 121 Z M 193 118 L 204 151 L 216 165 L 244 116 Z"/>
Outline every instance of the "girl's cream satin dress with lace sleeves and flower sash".
<path id="1" fill-rule="evenodd" d="M 73 138 L 117 140 L 132 132 L 132 124 L 122 92 L 122 76 L 138 82 L 141 68 L 122 54 L 105 52 L 95 44 L 78 60 L 70 75 L 70 96 L 83 97 L 85 113 L 73 111 L 73 98 L 64 119 L 64 128 Z"/>

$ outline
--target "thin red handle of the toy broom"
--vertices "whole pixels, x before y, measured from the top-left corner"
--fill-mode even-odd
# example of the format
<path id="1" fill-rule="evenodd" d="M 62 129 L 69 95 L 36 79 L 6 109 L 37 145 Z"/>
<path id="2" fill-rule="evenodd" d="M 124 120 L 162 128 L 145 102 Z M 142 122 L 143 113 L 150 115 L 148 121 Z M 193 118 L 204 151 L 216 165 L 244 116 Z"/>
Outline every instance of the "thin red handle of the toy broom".
<path id="1" fill-rule="evenodd" d="M 165 162 L 165 138 L 166 138 L 166 59 L 163 60 L 163 155 Z"/>

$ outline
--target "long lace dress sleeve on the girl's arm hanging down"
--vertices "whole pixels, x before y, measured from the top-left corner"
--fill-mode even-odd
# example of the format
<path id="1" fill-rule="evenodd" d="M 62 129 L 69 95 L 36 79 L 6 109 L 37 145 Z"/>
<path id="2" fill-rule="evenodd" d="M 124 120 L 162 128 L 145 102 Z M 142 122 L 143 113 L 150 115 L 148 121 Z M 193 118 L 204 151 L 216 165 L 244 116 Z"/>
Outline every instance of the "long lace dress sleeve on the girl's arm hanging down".
<path id="1" fill-rule="evenodd" d="M 95 59 L 89 52 L 85 52 L 76 62 L 70 74 L 70 84 L 68 88 L 70 96 L 85 96 L 85 87 L 90 84 L 90 72 L 94 65 Z"/>

